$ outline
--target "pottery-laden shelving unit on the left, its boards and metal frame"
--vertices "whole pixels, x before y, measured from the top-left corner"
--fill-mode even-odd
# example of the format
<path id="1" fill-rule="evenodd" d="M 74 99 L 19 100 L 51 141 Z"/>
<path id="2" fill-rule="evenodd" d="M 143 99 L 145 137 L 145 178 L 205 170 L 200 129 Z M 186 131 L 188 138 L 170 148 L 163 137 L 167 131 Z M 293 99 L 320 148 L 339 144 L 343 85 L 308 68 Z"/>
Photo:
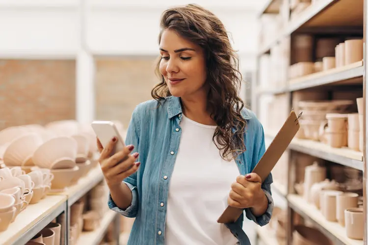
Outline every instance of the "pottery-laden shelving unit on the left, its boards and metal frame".
<path id="1" fill-rule="evenodd" d="M 29 204 L 27 208 L 21 212 L 17 219 L 9 225 L 6 231 L 0 232 L 1 245 L 24 245 L 39 231 L 41 231 L 48 223 L 53 221 L 61 213 L 66 214 L 65 223 L 61 224 L 65 227 L 65 237 L 68 237 L 70 227 L 70 207 L 79 198 L 84 196 L 99 182 L 103 180 L 103 174 L 100 167 L 92 169 L 85 177 L 79 179 L 78 183 L 69 187 L 63 193 L 50 193 L 46 198 L 36 204 Z M 108 225 L 114 221 L 117 213 L 108 211 L 101 221 L 100 227 L 93 232 L 83 232 L 80 236 L 79 243 L 88 245 L 98 245 L 103 239 Z M 118 219 L 114 224 L 114 228 L 119 231 Z M 119 235 L 116 234 L 116 240 L 119 242 Z M 69 245 L 69 239 L 65 239 L 65 245 Z M 86 243 L 88 241 L 88 243 Z M 93 242 L 91 242 L 93 241 Z"/>

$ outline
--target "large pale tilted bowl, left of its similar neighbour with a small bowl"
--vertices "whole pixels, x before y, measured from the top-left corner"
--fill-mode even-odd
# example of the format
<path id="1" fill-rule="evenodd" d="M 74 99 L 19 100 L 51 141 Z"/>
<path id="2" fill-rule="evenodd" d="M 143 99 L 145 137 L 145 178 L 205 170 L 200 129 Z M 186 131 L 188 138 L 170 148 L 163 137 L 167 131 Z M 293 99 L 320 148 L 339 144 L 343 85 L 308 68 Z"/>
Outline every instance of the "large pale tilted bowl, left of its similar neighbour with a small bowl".
<path id="1" fill-rule="evenodd" d="M 17 138 L 10 143 L 4 152 L 5 165 L 34 165 L 32 162 L 33 153 L 42 143 L 42 138 L 36 133 L 29 133 Z"/>

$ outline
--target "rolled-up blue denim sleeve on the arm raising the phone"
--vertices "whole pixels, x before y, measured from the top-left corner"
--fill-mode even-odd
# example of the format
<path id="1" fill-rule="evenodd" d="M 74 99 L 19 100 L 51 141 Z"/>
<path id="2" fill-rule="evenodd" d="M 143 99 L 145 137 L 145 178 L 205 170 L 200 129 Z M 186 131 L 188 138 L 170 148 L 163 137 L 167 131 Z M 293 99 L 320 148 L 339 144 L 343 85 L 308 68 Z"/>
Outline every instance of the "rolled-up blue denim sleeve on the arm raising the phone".
<path id="1" fill-rule="evenodd" d="M 136 152 L 139 148 L 139 120 L 137 120 L 137 108 L 132 113 L 131 116 L 131 122 L 129 123 L 128 132 L 127 132 L 127 138 L 125 139 L 125 144 L 133 145 L 134 150 L 132 153 Z M 139 159 L 138 159 L 139 161 Z M 116 206 L 114 200 L 111 198 L 111 195 L 109 195 L 107 204 L 108 207 L 115 211 L 120 213 L 123 216 L 126 216 L 128 218 L 134 218 L 137 216 L 138 212 L 138 204 L 139 204 L 139 196 L 138 196 L 138 189 L 137 189 L 137 172 L 133 173 L 131 176 L 124 179 L 123 183 L 125 183 L 129 189 L 131 190 L 131 205 L 123 210 Z"/>

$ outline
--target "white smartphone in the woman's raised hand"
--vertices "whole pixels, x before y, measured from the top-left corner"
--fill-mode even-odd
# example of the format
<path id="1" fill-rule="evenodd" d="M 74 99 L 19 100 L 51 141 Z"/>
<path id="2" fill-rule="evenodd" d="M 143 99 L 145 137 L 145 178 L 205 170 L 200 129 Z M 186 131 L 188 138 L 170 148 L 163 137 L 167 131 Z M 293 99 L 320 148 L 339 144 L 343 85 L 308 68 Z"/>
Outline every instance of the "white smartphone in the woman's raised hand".
<path id="1" fill-rule="evenodd" d="M 91 124 L 93 131 L 97 138 L 99 138 L 101 145 L 105 148 L 113 137 L 118 139 L 114 149 L 111 152 L 111 156 L 122 150 L 125 147 L 123 137 L 121 137 L 116 125 L 111 121 L 93 121 Z"/>

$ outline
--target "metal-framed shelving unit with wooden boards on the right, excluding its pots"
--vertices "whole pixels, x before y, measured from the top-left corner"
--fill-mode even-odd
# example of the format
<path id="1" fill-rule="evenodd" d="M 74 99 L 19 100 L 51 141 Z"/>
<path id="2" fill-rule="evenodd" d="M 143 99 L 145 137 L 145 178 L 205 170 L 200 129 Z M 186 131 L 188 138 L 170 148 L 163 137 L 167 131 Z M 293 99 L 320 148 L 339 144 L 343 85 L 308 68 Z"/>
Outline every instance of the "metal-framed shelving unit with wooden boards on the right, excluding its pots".
<path id="1" fill-rule="evenodd" d="M 273 3 L 273 7 L 275 9 L 268 9 L 270 4 Z M 261 16 L 263 14 L 274 15 L 275 20 L 282 21 L 282 28 L 278 29 L 276 34 L 274 34 L 273 38 L 269 38 L 265 40 L 261 47 L 258 50 L 258 68 L 260 66 L 268 65 L 268 63 L 263 62 L 271 62 L 270 64 L 276 64 L 280 62 L 283 64 L 281 67 L 285 67 L 285 71 L 274 71 L 271 73 L 275 75 L 275 73 L 284 73 L 289 74 L 289 66 L 301 62 L 295 61 L 297 55 L 304 55 L 297 53 L 297 49 L 295 49 L 295 37 L 297 35 L 307 34 L 312 36 L 312 50 L 310 52 L 315 52 L 316 42 L 318 38 L 334 38 L 341 37 L 349 38 L 351 37 L 363 37 L 363 41 L 366 47 L 366 34 L 367 34 L 367 4 L 368 0 L 312 0 L 312 3 L 307 6 L 302 12 L 297 15 L 291 15 L 291 11 L 289 10 L 291 5 L 291 0 L 279 0 L 277 4 L 274 1 L 269 0 L 266 2 L 265 6 L 261 10 Z M 288 11 L 285 11 L 285 8 Z M 277 9 L 278 8 L 278 9 Z M 346 11 L 346 10 L 349 11 Z M 268 17 L 267 17 L 268 18 Z M 263 21 L 263 20 L 262 20 Z M 268 32 L 267 32 L 268 33 Z M 273 33 L 272 31 L 270 33 Z M 344 39 L 343 39 L 344 40 Z M 343 42 L 343 41 L 341 41 Z M 275 48 L 275 49 L 274 49 Z M 282 48 L 282 49 L 281 49 Z M 275 50 L 275 51 L 274 51 Z M 366 161 L 367 158 L 367 130 L 366 123 L 368 122 L 367 118 L 367 86 L 366 86 L 366 77 L 367 77 L 367 69 L 365 64 L 367 64 L 367 51 L 364 50 L 363 60 L 358 61 L 346 66 L 330 69 L 327 71 L 312 73 L 309 75 L 301 76 L 294 79 L 283 78 L 278 76 L 275 79 L 271 79 L 274 81 L 274 84 L 271 82 L 264 82 L 269 79 L 265 79 L 265 77 L 261 76 L 260 69 L 258 69 L 258 80 L 256 79 L 252 88 L 256 91 L 253 94 L 252 98 L 252 110 L 258 115 L 263 115 L 260 110 L 263 104 L 260 102 L 262 98 L 265 98 L 263 101 L 272 101 L 274 98 L 282 98 L 288 107 L 279 108 L 280 115 L 286 115 L 284 112 L 288 112 L 292 107 L 295 108 L 294 104 L 294 95 L 296 98 L 306 93 L 303 100 L 318 100 L 322 98 L 312 98 L 309 99 L 311 93 L 319 92 L 320 94 L 325 93 L 322 96 L 325 96 L 324 99 L 335 99 L 334 92 L 338 91 L 341 97 L 348 97 L 345 91 L 349 91 L 349 89 L 353 92 L 353 90 L 359 90 L 362 92 L 365 103 L 365 111 L 364 111 L 364 149 L 363 152 L 351 150 L 347 147 L 342 148 L 333 148 L 321 142 L 313 141 L 313 140 L 305 140 L 294 138 L 289 147 L 288 147 L 288 155 L 289 155 L 289 164 L 287 169 L 285 169 L 285 176 L 288 177 L 288 185 L 283 186 L 280 184 L 280 181 L 277 180 L 277 177 L 274 176 L 274 182 L 271 185 L 271 188 L 274 193 L 277 193 L 278 196 L 284 196 L 287 203 L 287 213 L 288 213 L 288 224 L 286 226 L 287 230 L 287 242 L 286 245 L 292 245 L 292 237 L 293 237 L 293 214 L 296 212 L 301 215 L 305 221 L 310 221 L 309 223 L 313 224 L 317 229 L 319 229 L 322 233 L 324 233 L 335 245 L 363 245 L 364 241 L 356 241 L 352 239 L 348 239 L 345 235 L 345 228 L 340 226 L 337 222 L 329 222 L 326 221 L 323 215 L 317 210 L 313 205 L 308 204 L 302 197 L 294 194 L 294 184 L 296 181 L 296 170 L 297 170 L 297 157 L 299 155 L 310 155 L 319 159 L 326 160 L 328 162 L 332 162 L 334 164 L 339 164 L 342 166 L 350 167 L 356 170 L 360 170 L 363 172 L 363 197 L 364 197 L 364 216 L 365 216 L 365 236 L 368 234 L 367 230 L 367 180 L 366 180 Z M 274 55 L 282 56 L 283 59 L 276 59 Z M 312 60 L 308 60 L 310 62 L 320 61 L 316 60 L 317 57 L 313 53 Z M 304 56 L 303 56 L 304 57 Z M 308 56 L 309 57 L 309 56 Z M 323 56 L 322 56 L 323 57 Z M 263 60 L 264 58 L 264 60 Z M 307 60 L 306 60 L 307 61 Z M 286 63 L 284 65 L 284 63 Z M 263 70 L 263 73 L 268 70 Z M 262 73 L 262 74 L 263 74 Z M 288 77 L 288 75 L 285 75 Z M 262 83 L 260 82 L 262 79 Z M 320 95 L 319 94 L 319 95 Z M 317 97 L 317 96 L 316 96 Z M 343 98 L 345 99 L 345 98 Z M 350 99 L 350 98 L 349 98 Z M 294 105 L 294 106 L 293 106 Z M 283 111 L 285 110 L 285 111 Z M 266 113 L 265 111 L 264 113 Z M 300 111 L 297 111 L 300 112 Z M 268 112 L 269 113 L 269 112 Z M 286 118 L 285 118 L 286 119 Z M 267 122 L 267 121 L 265 121 Z M 269 122 L 269 119 L 268 119 Z M 278 122 L 279 124 L 280 122 Z M 264 126 L 264 125 L 263 125 Z M 270 128 L 278 128 L 276 124 L 267 125 Z M 281 127 L 281 126 L 280 126 Z M 271 142 L 275 137 L 277 132 L 272 130 L 267 130 L 264 128 L 264 134 L 266 138 L 266 142 Z M 298 154 L 304 153 L 304 154 Z M 280 169 L 277 170 L 278 172 Z M 298 173 L 300 174 L 300 173 Z M 308 222 L 307 222 L 308 223 Z M 271 238 L 273 230 L 267 230 L 266 227 L 259 228 L 257 227 L 257 234 L 262 241 L 262 244 L 277 244 L 277 241 Z M 367 240 L 367 237 L 364 238 Z"/>

